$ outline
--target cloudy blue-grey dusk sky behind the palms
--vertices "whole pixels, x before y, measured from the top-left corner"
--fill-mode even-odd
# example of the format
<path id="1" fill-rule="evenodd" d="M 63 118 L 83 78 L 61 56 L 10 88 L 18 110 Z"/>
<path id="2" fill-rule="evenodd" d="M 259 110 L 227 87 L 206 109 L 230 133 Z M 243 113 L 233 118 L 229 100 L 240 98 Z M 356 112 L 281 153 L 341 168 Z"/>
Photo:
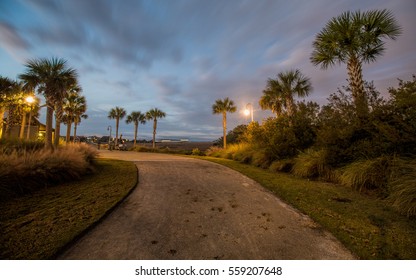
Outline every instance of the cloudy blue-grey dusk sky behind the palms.
<path id="1" fill-rule="evenodd" d="M 300 69 L 313 91 L 307 100 L 325 104 L 347 84 L 346 65 L 312 65 L 312 42 L 325 24 L 346 11 L 388 9 L 403 29 L 386 52 L 363 66 L 363 76 L 387 95 L 397 79 L 416 74 L 414 0 L 1 0 L 0 75 L 17 79 L 29 59 L 58 57 L 77 70 L 88 119 L 78 135 L 108 135 L 115 106 L 146 112 L 159 108 L 157 139 L 212 141 L 222 136 L 215 100 L 229 97 L 238 110 L 227 130 L 271 116 L 258 101 L 267 79 Z M 41 112 L 41 121 L 45 112 Z M 61 134 L 66 131 L 61 128 Z M 134 125 L 119 133 L 133 138 Z M 150 139 L 152 123 L 139 126 Z"/>

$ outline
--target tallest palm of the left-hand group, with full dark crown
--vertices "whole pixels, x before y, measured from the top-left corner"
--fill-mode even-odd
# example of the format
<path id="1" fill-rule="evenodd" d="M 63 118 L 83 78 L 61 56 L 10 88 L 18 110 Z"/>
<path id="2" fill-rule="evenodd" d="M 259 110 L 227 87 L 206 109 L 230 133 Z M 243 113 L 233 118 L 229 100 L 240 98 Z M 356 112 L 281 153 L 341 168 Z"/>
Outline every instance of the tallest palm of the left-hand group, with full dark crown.
<path id="1" fill-rule="evenodd" d="M 46 135 L 45 147 L 52 147 L 52 121 L 53 112 L 56 105 L 63 102 L 62 95 L 68 87 L 77 83 L 77 72 L 73 68 L 67 67 L 64 59 L 34 59 L 26 64 L 26 72 L 19 75 L 25 82 L 25 88 L 37 89 L 39 94 L 43 94 L 46 100 Z M 59 119 L 58 119 L 59 122 Z M 55 134 L 58 134 L 60 126 L 56 127 Z"/>

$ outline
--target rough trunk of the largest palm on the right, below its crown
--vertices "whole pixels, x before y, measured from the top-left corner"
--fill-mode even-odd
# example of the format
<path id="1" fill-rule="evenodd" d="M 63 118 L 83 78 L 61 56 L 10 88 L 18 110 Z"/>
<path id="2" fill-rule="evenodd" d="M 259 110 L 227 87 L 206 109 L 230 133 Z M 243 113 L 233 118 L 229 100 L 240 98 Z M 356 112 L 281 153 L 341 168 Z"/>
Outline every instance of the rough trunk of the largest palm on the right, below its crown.
<path id="1" fill-rule="evenodd" d="M 350 78 L 350 87 L 355 104 L 355 110 L 359 120 L 364 121 L 368 116 L 368 101 L 364 92 L 364 81 L 361 68 L 361 62 L 355 56 L 348 60 L 348 76 Z"/>

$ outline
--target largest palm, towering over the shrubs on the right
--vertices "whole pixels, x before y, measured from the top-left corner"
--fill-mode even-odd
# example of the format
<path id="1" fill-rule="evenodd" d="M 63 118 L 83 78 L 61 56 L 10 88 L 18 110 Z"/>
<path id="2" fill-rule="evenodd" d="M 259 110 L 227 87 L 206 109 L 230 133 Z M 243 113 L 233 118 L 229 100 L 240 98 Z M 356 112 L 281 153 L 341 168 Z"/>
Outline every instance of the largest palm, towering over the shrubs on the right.
<path id="1" fill-rule="evenodd" d="M 395 40 L 401 28 L 388 10 L 345 12 L 332 18 L 313 42 L 311 62 L 323 69 L 346 63 L 358 117 L 365 118 L 362 63 L 374 62 L 385 51 L 383 39 Z"/>

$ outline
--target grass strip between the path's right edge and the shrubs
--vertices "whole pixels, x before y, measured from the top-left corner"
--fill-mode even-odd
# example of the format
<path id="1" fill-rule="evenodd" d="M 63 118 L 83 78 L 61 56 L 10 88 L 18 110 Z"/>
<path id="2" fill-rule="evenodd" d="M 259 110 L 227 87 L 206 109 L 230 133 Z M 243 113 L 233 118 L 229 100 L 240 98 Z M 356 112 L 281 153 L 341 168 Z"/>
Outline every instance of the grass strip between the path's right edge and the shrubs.
<path id="1" fill-rule="evenodd" d="M 416 219 L 383 200 L 341 185 L 274 173 L 236 161 L 199 157 L 237 170 L 310 216 L 361 259 L 416 259 Z"/>

